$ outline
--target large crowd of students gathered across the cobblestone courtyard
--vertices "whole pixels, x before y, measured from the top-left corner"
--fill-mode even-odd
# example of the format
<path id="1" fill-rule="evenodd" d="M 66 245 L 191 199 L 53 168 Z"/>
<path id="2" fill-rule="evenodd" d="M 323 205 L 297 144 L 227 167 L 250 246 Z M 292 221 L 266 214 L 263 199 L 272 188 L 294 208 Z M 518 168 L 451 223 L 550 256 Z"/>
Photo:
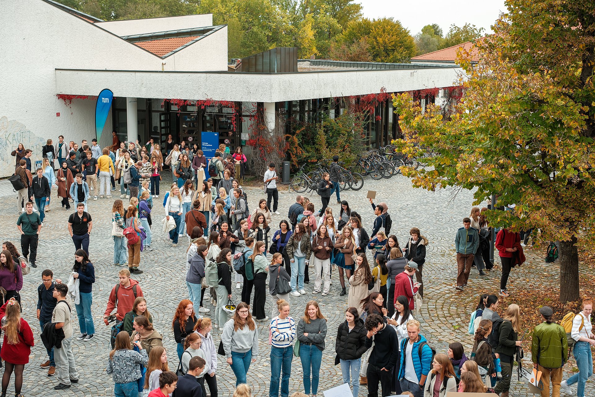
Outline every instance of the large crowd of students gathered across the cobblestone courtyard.
<path id="1" fill-rule="evenodd" d="M 320 210 L 316 212 L 308 198 L 297 196 L 287 218 L 279 219 L 277 229 L 273 217 L 281 214 L 277 211 L 275 165 L 270 164 L 263 179 L 267 198 L 259 199 L 250 211 L 248 196 L 242 188 L 247 159 L 241 148 L 229 155 L 229 149 L 222 145 L 213 158 L 206 159 L 198 148 L 177 145 L 171 139 L 165 153 L 152 140 L 146 145 L 130 143 L 126 149 L 115 134 L 111 148 L 99 148 L 96 140 L 91 146 L 83 141 L 80 149 L 73 142 L 68 149 L 64 145 L 62 136 L 58 146 L 52 146 L 48 140 L 48 148 L 44 148 L 45 167 L 36 171 L 35 178 L 27 173 L 30 154 L 22 145 L 14 152 L 15 156 L 23 154 L 23 158 L 18 158 L 16 174 L 27 191 L 18 192 L 17 196 L 22 208 L 17 221 L 22 257 L 10 242 L 5 242 L 0 252 L 0 280 L 6 279 L 2 282 L 6 289 L 5 303 L 0 308 L 0 317 L 6 318 L 2 322 L 5 337 L 1 357 L 6 362 L 2 396 L 13 372 L 15 395 L 20 395 L 23 368 L 33 346 L 32 331 L 20 317 L 21 269 L 26 268 L 27 262 L 36 267 L 37 240 L 55 187 L 62 198 L 62 207 L 68 209 L 73 202 L 76 208 L 68 218 L 68 232 L 76 252 L 67 284 L 54 280 L 49 269 L 42 272 L 42 284 L 37 289 L 37 318 L 48 360 L 40 366 L 48 369 L 48 376 L 58 373 L 59 382 L 54 387 L 57 390 L 67 389 L 79 380 L 72 338 L 84 343 L 95 335 L 91 312 L 95 270 L 89 259 L 93 219 L 87 211 L 87 200 L 98 189 L 97 177 L 100 198 L 104 195 L 110 198 L 115 191 L 114 182 L 120 183 L 120 199 L 112 204 L 111 235 L 114 265 L 128 267 L 118 272 L 120 281 L 111 289 L 103 316 L 104 323 L 112 323 L 114 329 L 107 372 L 112 375 L 116 396 L 155 397 L 170 393 L 206 396 L 208 387 L 211 397 L 217 397 L 218 354 L 225 357 L 236 377 L 236 392 L 246 393 L 242 385 L 249 383 L 250 365 L 259 359 L 257 323 L 262 322 L 267 323 L 271 345 L 268 360 L 272 397 L 289 396 L 295 357 L 302 366 L 302 391 L 317 396 L 330 327 L 337 330 L 335 364 L 340 364 L 343 382 L 349 383 L 355 397 L 362 385 L 367 385 L 369 397 L 378 395 L 379 386 L 383 396 L 396 392 L 415 397 L 443 397 L 450 391 L 488 389 L 508 395 L 513 356 L 520 345 L 518 306 L 510 305 L 500 317 L 497 296 L 483 295 L 469 324 L 475 340 L 469 356 L 459 342 L 451 343 L 445 352 L 436 353 L 431 341 L 421 335 L 416 318 L 417 302 L 423 298 L 422 270 L 428 239 L 418 227 L 412 227 L 402 247 L 397 236 L 390 233 L 392 220 L 388 205 L 374 204 L 371 199 L 375 216 L 373 223 L 366 225 L 368 233 L 361 214 L 352 211 L 347 201 L 340 200 L 338 157 L 333 158 L 335 167 L 331 165 L 330 175 L 325 174 L 320 183 Z M 56 159 L 61 167 L 54 174 L 52 160 Z M 161 201 L 159 182 L 162 170 L 168 166 L 174 182 Z M 333 193 L 340 204 L 336 215 L 328 207 Z M 96 193 L 93 194 L 93 199 L 97 199 Z M 125 204 L 123 199 L 130 201 Z M 171 246 L 177 246 L 180 236 L 187 239 L 188 245 L 183 271 L 189 299 L 179 302 L 172 329 L 161 330 L 171 332 L 177 343 L 179 365 L 175 373 L 168 361 L 173 354 L 162 346 L 163 335 L 154 327 L 140 283 L 130 278 L 131 274 L 143 273 L 141 252 L 152 251 L 151 215 L 159 205 L 164 207 L 164 231 L 168 232 Z M 272 227 L 277 230 L 272 232 Z M 478 208 L 473 208 L 455 237 L 457 289 L 466 286 L 472 265 L 478 268 L 480 276 L 485 275 L 483 270 L 493 267 L 485 248 L 489 235 L 485 217 Z M 518 233 L 499 230 L 496 248 L 503 268 L 500 295 L 508 296 L 506 280 L 510 269 L 524 260 Z M 315 295 L 331 293 L 333 269 L 339 273 L 339 296 L 347 295 L 345 320 L 339 324 L 328 324 L 314 299 Z M 231 303 L 234 284 L 236 290 L 241 290 L 241 302 L 237 305 Z M 311 291 L 306 292 L 306 284 L 311 285 Z M 207 292 L 210 299 L 205 301 Z M 293 307 L 297 312 L 303 310 L 303 315 L 294 320 L 290 297 L 309 294 L 312 299 L 305 307 Z M 267 295 L 274 302 L 270 317 L 265 312 Z M 212 310 L 208 307 L 209 300 L 214 306 L 211 318 L 206 317 Z M 73 301 L 79 318 L 78 336 L 74 336 L 70 320 Z M 537 357 L 536 365 L 543 373 L 549 369 L 555 391 L 561 387 L 568 392 L 569 385 L 578 383 L 578 396 L 584 396 L 585 380 L 592 374 L 588 346 L 595 344 L 591 308 L 592 302 L 585 301 L 582 322 L 572 333 L 573 338 L 575 334 L 578 337 L 574 349 L 580 372 L 576 376 L 561 382 L 561 370 L 553 369 L 561 368 L 567 357 L 561 358 L 559 367 L 556 367 L 558 361 L 539 361 L 538 352 L 543 345 L 537 343 L 534 360 Z M 550 324 L 552 314 L 547 310 L 541 313 Z M 579 316 L 575 321 L 576 318 Z M 496 327 L 497 339 L 489 339 Z M 19 330 L 17 335 L 14 329 Z M 539 335 L 534 333 L 534 337 Z M 553 345 L 549 342 L 547 346 Z M 501 368 L 500 380 L 497 367 Z"/>

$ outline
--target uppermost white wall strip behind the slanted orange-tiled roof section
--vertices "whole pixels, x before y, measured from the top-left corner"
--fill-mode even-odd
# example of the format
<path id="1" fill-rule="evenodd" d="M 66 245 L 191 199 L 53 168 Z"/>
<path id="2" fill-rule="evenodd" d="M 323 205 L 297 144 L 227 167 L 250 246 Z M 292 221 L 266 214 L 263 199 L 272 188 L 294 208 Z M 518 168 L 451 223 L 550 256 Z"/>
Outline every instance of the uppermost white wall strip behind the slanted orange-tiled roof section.
<path id="1" fill-rule="evenodd" d="M 128 21 L 97 22 L 118 36 L 142 35 L 144 33 L 167 32 L 168 30 L 193 29 L 212 26 L 213 14 L 183 15 L 181 17 L 146 18 Z"/>

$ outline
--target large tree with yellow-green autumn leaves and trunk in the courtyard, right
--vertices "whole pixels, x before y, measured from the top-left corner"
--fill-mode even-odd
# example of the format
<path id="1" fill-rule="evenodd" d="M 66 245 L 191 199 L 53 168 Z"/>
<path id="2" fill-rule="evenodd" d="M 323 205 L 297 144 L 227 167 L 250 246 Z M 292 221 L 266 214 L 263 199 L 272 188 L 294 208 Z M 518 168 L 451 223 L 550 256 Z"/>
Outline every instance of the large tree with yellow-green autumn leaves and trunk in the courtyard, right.
<path id="1" fill-rule="evenodd" d="M 540 230 L 560 242 L 560 301 L 578 301 L 578 246 L 595 242 L 595 2 L 508 0 L 496 35 L 466 52 L 468 74 L 458 113 L 421 114 L 406 95 L 394 99 L 415 154 L 435 151 L 424 170 L 405 170 L 414 186 L 495 193 L 514 211 L 490 211 L 491 225 Z M 415 132 L 415 133 L 414 133 Z M 537 232 L 536 232 L 537 235 Z"/>

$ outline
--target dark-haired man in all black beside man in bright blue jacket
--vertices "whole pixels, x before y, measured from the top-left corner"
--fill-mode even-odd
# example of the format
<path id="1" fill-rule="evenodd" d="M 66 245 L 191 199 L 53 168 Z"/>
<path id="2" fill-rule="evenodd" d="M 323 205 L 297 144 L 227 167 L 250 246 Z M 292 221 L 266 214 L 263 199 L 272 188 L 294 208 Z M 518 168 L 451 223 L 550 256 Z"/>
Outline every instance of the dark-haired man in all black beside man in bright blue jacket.
<path id="1" fill-rule="evenodd" d="M 382 385 L 382 397 L 390 396 L 390 374 L 397 362 L 399 340 L 393 327 L 387 326 L 380 314 L 370 314 L 366 318 L 366 347 L 374 342 L 374 349 L 369 356 L 368 397 L 378 397 L 378 381 Z"/>

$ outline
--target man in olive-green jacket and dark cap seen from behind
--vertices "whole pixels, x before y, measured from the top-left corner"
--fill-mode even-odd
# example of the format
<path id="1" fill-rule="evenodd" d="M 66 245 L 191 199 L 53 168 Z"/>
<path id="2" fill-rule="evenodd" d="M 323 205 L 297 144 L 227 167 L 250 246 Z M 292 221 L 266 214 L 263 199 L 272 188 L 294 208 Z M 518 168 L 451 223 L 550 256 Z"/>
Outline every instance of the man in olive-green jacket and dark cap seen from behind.
<path id="1" fill-rule="evenodd" d="M 541 397 L 550 395 L 550 379 L 552 380 L 552 397 L 560 397 L 562 367 L 568 361 L 568 342 L 565 330 L 552 322 L 552 308 L 542 307 L 539 312 L 543 323 L 533 330 L 531 358 L 533 366 L 541 371 L 543 390 Z"/>

